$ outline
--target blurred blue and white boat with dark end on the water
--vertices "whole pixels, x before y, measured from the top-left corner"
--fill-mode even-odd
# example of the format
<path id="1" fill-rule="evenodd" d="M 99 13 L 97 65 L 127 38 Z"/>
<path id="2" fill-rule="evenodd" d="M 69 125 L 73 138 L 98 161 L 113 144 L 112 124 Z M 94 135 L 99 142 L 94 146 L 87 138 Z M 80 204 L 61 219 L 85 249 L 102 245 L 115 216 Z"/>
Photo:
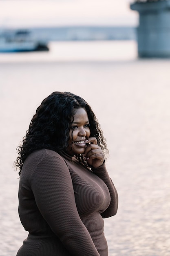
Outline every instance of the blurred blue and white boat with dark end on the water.
<path id="1" fill-rule="evenodd" d="M 49 51 L 46 41 L 31 36 L 28 29 L 4 30 L 0 33 L 0 52 Z"/>

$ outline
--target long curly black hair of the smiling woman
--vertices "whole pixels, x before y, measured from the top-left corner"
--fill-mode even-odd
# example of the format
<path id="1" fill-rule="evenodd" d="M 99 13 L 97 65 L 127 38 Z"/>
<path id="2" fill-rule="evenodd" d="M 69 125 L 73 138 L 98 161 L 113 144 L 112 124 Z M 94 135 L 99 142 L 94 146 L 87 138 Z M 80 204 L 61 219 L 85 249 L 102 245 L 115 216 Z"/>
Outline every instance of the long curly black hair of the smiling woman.
<path id="1" fill-rule="evenodd" d="M 17 148 L 18 157 L 15 167 L 18 168 L 19 175 L 26 157 L 33 151 L 46 148 L 63 153 L 68 148 L 69 132 L 74 120 L 75 110 L 84 108 L 87 112 L 91 137 L 96 137 L 97 144 L 106 153 L 106 139 L 100 129 L 95 114 L 88 103 L 81 97 L 71 92 L 53 92 L 37 108 L 33 116 L 26 136 L 22 144 Z"/>

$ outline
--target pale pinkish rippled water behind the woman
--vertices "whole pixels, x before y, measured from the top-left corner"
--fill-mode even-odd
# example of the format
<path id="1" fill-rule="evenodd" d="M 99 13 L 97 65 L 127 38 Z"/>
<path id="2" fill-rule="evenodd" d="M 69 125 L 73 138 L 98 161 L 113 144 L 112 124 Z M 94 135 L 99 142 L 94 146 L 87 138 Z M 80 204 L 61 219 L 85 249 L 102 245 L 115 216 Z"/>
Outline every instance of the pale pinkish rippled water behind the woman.
<path id="1" fill-rule="evenodd" d="M 71 91 L 104 130 L 119 193 L 105 220 L 109 256 L 170 255 L 170 60 L 138 60 L 135 42 L 52 43 L 42 53 L 0 54 L 0 256 L 26 238 L 18 217 L 15 148 L 42 99 Z"/>

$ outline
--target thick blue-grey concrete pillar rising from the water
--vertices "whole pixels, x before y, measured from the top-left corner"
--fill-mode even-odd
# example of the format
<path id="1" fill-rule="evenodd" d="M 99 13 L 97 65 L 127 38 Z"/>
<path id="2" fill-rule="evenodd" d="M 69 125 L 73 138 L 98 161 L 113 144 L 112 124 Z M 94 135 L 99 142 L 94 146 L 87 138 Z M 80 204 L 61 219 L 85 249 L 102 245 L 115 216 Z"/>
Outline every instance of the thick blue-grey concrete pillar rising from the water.
<path id="1" fill-rule="evenodd" d="M 170 0 L 138 0 L 130 9 L 139 12 L 139 57 L 170 58 Z"/>

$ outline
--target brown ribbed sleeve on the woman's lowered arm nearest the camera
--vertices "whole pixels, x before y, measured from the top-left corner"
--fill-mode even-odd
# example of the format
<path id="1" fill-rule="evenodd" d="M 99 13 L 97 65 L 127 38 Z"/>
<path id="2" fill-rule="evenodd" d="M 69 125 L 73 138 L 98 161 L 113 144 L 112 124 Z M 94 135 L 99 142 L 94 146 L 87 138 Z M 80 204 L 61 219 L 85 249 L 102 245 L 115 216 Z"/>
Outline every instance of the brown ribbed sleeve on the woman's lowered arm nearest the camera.
<path id="1" fill-rule="evenodd" d="M 71 175 L 64 160 L 46 155 L 31 177 L 31 189 L 39 211 L 68 252 L 74 256 L 99 256 L 77 212 Z"/>

